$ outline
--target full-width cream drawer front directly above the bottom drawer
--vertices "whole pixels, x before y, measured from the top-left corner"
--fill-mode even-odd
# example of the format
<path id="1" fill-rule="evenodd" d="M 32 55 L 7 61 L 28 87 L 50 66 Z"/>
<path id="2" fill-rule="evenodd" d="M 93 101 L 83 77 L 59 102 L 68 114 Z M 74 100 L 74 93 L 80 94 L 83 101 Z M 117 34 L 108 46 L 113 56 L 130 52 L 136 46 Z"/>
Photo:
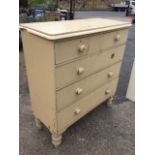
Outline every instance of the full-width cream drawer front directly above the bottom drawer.
<path id="1" fill-rule="evenodd" d="M 57 110 L 60 111 L 74 104 L 86 94 L 118 77 L 120 67 L 121 62 L 57 91 Z"/>

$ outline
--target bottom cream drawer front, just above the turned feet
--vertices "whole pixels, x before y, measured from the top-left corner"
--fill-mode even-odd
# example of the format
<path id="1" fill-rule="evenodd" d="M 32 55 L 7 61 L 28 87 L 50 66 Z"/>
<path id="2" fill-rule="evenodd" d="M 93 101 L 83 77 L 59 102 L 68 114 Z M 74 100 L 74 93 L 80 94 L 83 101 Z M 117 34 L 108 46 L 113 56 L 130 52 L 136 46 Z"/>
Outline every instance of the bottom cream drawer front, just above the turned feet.
<path id="1" fill-rule="evenodd" d="M 117 88 L 117 82 L 118 79 L 113 80 L 109 84 L 98 88 L 96 91 L 77 101 L 75 104 L 72 104 L 71 106 L 60 111 L 57 114 L 59 132 L 76 122 L 86 113 L 99 105 L 102 101 L 105 101 L 110 96 L 113 96 Z M 107 90 L 110 92 L 109 94 L 106 94 Z"/>

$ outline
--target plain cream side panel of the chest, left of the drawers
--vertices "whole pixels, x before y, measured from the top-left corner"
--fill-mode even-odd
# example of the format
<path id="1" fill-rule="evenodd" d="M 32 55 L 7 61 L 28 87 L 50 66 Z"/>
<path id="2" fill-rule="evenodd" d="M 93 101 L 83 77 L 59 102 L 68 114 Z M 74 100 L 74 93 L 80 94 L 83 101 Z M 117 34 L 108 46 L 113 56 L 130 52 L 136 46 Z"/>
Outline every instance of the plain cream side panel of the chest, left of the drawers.
<path id="1" fill-rule="evenodd" d="M 22 31 L 32 110 L 51 132 L 57 131 L 53 43 Z"/>

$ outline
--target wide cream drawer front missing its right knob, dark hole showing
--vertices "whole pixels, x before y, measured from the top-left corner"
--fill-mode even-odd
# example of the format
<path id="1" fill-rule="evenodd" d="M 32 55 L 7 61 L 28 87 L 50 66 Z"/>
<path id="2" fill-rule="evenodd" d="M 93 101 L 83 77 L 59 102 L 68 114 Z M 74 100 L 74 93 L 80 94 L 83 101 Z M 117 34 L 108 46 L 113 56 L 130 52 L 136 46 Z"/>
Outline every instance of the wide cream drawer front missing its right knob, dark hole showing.
<path id="1" fill-rule="evenodd" d="M 119 46 L 106 52 L 98 52 L 78 61 L 56 68 L 56 88 L 63 88 L 75 81 L 108 67 L 123 58 L 125 46 Z"/>

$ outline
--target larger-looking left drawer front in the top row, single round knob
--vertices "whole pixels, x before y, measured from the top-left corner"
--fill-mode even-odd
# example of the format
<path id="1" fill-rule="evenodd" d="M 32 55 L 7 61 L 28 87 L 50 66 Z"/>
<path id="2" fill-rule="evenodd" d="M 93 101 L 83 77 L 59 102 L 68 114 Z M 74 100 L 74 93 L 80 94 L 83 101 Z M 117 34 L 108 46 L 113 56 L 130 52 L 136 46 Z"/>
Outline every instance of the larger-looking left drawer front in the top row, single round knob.
<path id="1" fill-rule="evenodd" d="M 55 43 L 56 64 L 79 58 L 99 49 L 99 35 Z"/>

